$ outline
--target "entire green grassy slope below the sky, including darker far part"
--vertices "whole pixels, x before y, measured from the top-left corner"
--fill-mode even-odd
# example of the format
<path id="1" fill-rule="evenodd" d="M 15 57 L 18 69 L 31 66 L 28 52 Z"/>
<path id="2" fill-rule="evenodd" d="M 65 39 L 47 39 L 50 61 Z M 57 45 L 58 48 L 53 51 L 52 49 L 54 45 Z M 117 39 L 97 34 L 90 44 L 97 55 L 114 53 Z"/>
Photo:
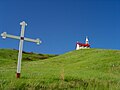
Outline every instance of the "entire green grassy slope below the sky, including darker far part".
<path id="1" fill-rule="evenodd" d="M 16 78 L 17 50 L 0 49 L 0 90 L 120 90 L 120 51 L 86 49 L 63 55 L 23 52 Z"/>

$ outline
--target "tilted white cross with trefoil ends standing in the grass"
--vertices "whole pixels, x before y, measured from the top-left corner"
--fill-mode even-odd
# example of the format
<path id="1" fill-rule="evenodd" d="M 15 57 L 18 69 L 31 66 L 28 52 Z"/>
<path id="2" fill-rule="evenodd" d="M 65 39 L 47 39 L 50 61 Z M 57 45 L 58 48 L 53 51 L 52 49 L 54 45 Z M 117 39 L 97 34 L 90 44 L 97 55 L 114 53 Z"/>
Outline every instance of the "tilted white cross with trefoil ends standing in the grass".
<path id="1" fill-rule="evenodd" d="M 23 21 L 20 23 L 21 25 L 21 35 L 20 36 L 14 36 L 14 35 L 10 35 L 7 34 L 6 32 L 3 32 L 1 34 L 2 38 L 13 38 L 13 39 L 19 39 L 20 43 L 19 43 L 19 53 L 18 53 L 18 63 L 17 63 L 17 78 L 20 78 L 20 71 L 21 71 L 21 60 L 22 60 L 22 49 L 23 49 L 23 41 L 29 41 L 29 42 L 35 42 L 37 44 L 40 44 L 41 41 L 37 38 L 37 39 L 30 39 L 30 38 L 25 38 L 24 37 L 24 31 L 25 31 L 25 26 L 27 26 L 27 24 Z"/>

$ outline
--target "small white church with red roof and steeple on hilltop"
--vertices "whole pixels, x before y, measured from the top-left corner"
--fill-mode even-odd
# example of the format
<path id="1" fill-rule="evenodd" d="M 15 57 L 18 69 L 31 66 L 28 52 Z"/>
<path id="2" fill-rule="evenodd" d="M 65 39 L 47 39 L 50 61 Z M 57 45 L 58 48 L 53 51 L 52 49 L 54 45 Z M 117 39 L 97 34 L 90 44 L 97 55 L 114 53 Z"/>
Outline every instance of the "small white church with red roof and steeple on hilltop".
<path id="1" fill-rule="evenodd" d="M 88 37 L 86 37 L 85 44 L 84 43 L 80 43 L 80 42 L 77 41 L 77 43 L 76 43 L 76 50 L 79 50 L 79 49 L 88 49 L 88 48 L 90 48 Z"/>

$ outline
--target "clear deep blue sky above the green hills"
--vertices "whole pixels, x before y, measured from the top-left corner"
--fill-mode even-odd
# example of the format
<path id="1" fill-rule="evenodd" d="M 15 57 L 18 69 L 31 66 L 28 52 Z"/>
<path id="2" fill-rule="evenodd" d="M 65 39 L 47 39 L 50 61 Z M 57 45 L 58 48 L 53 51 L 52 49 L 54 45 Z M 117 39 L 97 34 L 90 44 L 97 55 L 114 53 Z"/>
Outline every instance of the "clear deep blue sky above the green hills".
<path id="1" fill-rule="evenodd" d="M 0 0 L 0 33 L 40 38 L 24 51 L 64 54 L 88 36 L 91 48 L 120 50 L 120 0 Z M 0 48 L 18 49 L 19 40 L 0 37 Z"/>

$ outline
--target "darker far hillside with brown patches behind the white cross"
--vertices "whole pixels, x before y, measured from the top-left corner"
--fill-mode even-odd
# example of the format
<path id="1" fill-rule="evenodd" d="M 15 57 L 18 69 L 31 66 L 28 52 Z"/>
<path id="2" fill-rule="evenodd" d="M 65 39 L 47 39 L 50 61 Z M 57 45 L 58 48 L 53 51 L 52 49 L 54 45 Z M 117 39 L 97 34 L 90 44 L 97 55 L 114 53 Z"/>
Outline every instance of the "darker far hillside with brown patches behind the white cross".
<path id="1" fill-rule="evenodd" d="M 50 54 L 37 54 L 33 52 L 23 51 L 22 61 L 37 61 L 44 60 L 58 55 Z M 18 59 L 18 50 L 16 49 L 0 49 L 0 65 L 14 64 L 17 63 Z"/>

